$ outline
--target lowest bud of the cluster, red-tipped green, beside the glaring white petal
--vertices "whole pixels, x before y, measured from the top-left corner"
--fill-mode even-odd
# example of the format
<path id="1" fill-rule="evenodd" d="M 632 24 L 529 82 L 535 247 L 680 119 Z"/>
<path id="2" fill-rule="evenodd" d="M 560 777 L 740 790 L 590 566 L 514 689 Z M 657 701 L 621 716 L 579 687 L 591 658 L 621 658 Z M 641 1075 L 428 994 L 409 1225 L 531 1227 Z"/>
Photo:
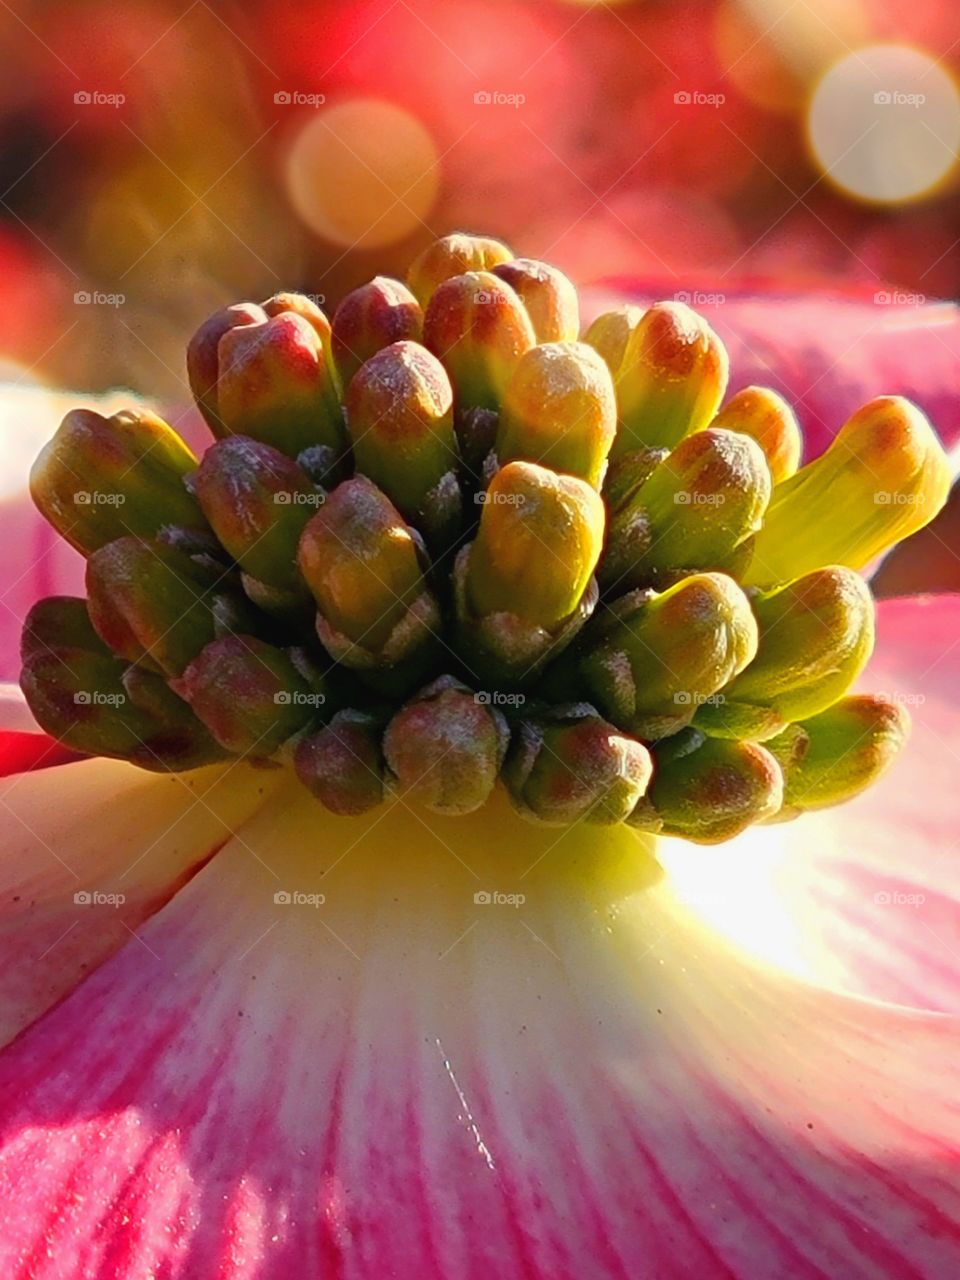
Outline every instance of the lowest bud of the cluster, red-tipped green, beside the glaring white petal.
<path id="1" fill-rule="evenodd" d="M 654 748 L 653 783 L 628 819 L 632 826 L 718 845 L 780 810 L 783 778 L 759 744 L 678 737 Z"/>

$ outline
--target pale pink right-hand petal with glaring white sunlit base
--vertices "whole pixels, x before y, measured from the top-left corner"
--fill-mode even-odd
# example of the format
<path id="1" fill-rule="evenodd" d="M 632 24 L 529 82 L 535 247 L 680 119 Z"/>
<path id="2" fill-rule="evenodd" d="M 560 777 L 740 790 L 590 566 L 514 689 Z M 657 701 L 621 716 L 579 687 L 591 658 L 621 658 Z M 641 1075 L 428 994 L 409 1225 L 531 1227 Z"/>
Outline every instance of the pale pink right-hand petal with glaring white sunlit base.
<path id="1" fill-rule="evenodd" d="M 883 600 L 863 691 L 902 700 L 910 741 L 847 805 L 762 828 L 707 865 L 664 842 L 686 901 L 813 982 L 960 1010 L 960 595 Z M 748 892 L 742 886 L 749 884 Z"/>

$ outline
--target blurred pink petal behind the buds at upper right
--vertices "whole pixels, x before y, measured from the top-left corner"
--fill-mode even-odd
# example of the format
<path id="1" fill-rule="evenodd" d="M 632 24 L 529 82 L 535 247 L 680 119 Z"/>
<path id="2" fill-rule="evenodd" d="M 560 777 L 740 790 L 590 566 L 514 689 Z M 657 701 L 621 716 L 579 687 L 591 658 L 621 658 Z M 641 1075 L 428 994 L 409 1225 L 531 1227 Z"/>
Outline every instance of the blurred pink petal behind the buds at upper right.
<path id="1" fill-rule="evenodd" d="M 686 292 L 684 292 L 686 291 Z M 908 396 L 947 444 L 960 439 L 960 311 L 937 302 L 882 305 L 861 297 L 737 293 L 714 282 L 700 294 L 681 283 L 625 280 L 588 291 L 593 317 L 626 301 L 689 298 L 730 351 L 730 394 L 751 384 L 773 387 L 795 407 L 804 458 L 822 453 L 846 419 L 874 396 Z M 698 297 L 719 297 L 717 305 Z"/>

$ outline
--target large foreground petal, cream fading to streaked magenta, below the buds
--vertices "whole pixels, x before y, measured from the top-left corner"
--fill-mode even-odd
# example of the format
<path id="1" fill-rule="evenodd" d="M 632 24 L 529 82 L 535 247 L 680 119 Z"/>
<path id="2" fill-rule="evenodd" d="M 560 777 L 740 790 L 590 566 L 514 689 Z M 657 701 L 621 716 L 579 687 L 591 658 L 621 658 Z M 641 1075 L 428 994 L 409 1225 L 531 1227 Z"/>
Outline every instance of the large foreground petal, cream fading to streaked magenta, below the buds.
<path id="1" fill-rule="evenodd" d="M 957 1024 L 744 963 L 628 832 L 291 790 L 140 937 L 0 1056 L 0 1274 L 955 1274 Z"/>

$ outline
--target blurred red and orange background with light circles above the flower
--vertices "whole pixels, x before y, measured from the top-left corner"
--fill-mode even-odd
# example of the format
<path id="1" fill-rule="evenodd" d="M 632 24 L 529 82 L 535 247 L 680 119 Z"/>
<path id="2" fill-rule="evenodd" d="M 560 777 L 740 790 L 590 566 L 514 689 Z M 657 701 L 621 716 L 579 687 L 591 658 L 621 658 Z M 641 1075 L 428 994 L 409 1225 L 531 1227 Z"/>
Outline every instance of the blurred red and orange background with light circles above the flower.
<path id="1" fill-rule="evenodd" d="M 183 399 L 216 306 L 454 228 L 667 297 L 960 289 L 948 0 L 3 0 L 0 60 L 8 379 Z"/>

